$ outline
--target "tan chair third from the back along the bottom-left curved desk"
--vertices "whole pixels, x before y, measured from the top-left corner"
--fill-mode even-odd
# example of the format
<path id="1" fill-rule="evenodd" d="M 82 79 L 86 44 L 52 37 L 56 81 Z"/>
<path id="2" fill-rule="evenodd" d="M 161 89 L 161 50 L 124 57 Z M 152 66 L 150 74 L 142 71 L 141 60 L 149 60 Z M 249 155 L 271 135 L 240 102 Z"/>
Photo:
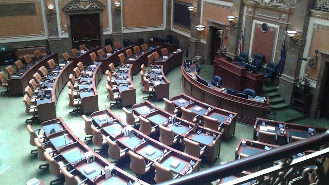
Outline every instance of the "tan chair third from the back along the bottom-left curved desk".
<path id="1" fill-rule="evenodd" d="M 48 152 L 44 152 L 43 155 L 45 159 L 49 162 L 49 172 L 51 173 L 51 175 L 58 176 L 57 179 L 50 181 L 50 185 L 58 181 L 63 182 L 65 179 L 60 169 L 65 168 L 64 166 L 66 165 L 66 162 L 64 160 L 59 159 L 61 157 L 60 155 L 52 157 L 48 154 Z"/>

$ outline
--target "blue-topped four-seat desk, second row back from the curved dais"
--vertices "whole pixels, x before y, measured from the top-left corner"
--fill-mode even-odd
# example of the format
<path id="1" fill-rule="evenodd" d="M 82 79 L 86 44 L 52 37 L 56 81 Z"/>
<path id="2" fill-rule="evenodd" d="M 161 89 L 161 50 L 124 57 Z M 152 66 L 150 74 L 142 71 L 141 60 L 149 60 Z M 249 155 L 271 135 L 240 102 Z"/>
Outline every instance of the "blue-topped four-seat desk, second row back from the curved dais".
<path id="1" fill-rule="evenodd" d="M 135 114 L 148 119 L 152 126 L 161 124 L 172 130 L 174 135 L 179 135 L 181 140 L 188 138 L 199 143 L 202 147 L 206 146 L 206 160 L 209 161 L 212 165 L 214 161 L 220 157 L 222 133 L 210 130 L 210 128 L 206 128 L 200 125 L 195 125 L 194 123 L 188 122 L 178 117 L 175 118 L 176 121 L 173 121 L 175 123 L 178 121 L 180 122 L 180 124 L 176 126 L 175 124 L 172 124 L 172 121 L 169 120 L 169 117 L 173 116 L 172 114 L 165 112 L 165 110 L 160 109 L 149 101 L 136 104 L 133 106 L 133 109 Z M 194 130 L 192 130 L 193 127 Z M 196 134 L 199 129 L 202 129 L 202 133 Z M 156 132 L 159 132 L 158 128 Z M 215 139 L 212 137 L 213 134 L 216 136 Z M 184 146 L 185 143 L 182 142 L 182 145 Z"/>

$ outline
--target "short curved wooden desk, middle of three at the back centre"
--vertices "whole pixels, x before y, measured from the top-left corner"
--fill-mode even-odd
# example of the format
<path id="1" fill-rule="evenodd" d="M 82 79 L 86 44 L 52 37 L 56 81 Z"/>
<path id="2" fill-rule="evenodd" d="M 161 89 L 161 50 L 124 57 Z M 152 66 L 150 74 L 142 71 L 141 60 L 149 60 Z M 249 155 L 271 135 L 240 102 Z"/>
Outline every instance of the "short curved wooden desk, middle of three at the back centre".
<path id="1" fill-rule="evenodd" d="M 134 75 L 137 74 L 137 72 L 140 70 L 140 66 L 144 64 L 145 66 L 148 66 L 148 55 L 152 54 L 153 52 L 157 51 L 158 53 L 161 53 L 162 47 L 157 47 L 154 49 L 150 49 L 148 51 L 142 51 L 141 54 L 135 53 L 133 54 L 133 57 L 130 59 L 125 60 L 125 64 L 134 64 L 132 68 L 132 72 Z"/>

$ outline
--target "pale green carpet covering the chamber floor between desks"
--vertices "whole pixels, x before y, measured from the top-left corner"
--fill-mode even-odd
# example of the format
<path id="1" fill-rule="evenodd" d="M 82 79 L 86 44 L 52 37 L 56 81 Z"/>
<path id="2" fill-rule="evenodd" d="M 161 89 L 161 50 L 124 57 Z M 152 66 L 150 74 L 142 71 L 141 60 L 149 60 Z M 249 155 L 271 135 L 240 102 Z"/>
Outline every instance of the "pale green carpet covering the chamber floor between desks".
<path id="1" fill-rule="evenodd" d="M 6 66 L 0 66 L 0 71 L 5 71 Z M 14 67 L 15 68 L 15 67 Z M 176 95 L 183 93 L 181 89 L 181 71 L 180 66 L 172 69 L 166 74 L 166 77 L 170 81 L 170 95 L 169 98 L 172 98 Z M 212 79 L 213 66 L 212 65 L 203 65 L 200 72 L 205 80 Z M 143 102 L 142 91 L 139 89 L 142 88 L 140 85 L 140 76 L 134 76 L 133 79 L 134 85 L 136 86 L 136 103 Z M 106 76 L 103 75 L 103 79 L 100 80 L 100 83 L 97 86 L 98 91 L 98 103 L 99 109 L 103 110 L 105 107 L 109 107 L 109 103 L 112 102 L 106 98 L 107 90 L 105 88 Z M 0 88 L 0 91 L 5 90 Z M 69 98 L 67 95 L 67 87 L 61 91 L 61 94 L 58 99 L 57 104 L 57 117 L 62 117 L 71 130 L 79 137 L 81 140 L 85 137 L 84 133 L 84 121 L 81 116 L 69 115 L 69 112 L 72 110 L 72 107 L 68 106 Z M 164 103 L 153 102 L 155 105 L 163 108 Z M 131 109 L 131 107 L 127 107 Z M 113 112 L 116 115 L 120 115 L 122 119 L 125 119 L 125 115 L 121 109 L 113 108 Z M 285 113 L 278 112 L 278 117 L 285 116 Z M 282 115 L 282 116 L 281 116 Z M 39 170 L 39 164 L 46 162 L 39 161 L 37 158 L 34 158 L 30 154 L 30 150 L 35 149 L 35 147 L 29 144 L 29 134 L 26 130 L 25 119 L 30 118 L 31 115 L 25 113 L 25 105 L 22 101 L 22 97 L 10 97 L 6 95 L 5 97 L 0 97 L 0 173 L 2 169 L 7 169 L 0 174 L 0 179 L 2 184 L 26 184 L 26 182 L 36 177 L 42 179 L 47 184 L 50 180 L 55 179 L 56 177 L 52 176 L 49 171 L 45 174 L 42 174 L 42 170 Z M 90 115 L 87 115 L 90 118 Z M 307 124 L 307 125 L 321 125 L 328 127 L 328 120 L 312 120 L 312 119 L 300 119 L 296 123 Z M 40 128 L 40 124 L 32 125 L 34 130 Z M 222 141 L 221 154 L 214 165 L 220 165 L 221 162 L 228 162 L 234 160 L 235 147 L 239 142 L 240 138 L 252 139 L 253 126 L 249 126 L 242 123 L 236 123 L 235 137 L 231 139 L 228 143 L 227 141 Z M 85 142 L 87 143 L 87 142 Z M 88 144 L 90 147 L 94 148 L 92 142 Z M 111 158 L 107 158 L 112 160 Z M 210 164 L 203 162 L 205 168 L 210 168 Z M 10 168 L 9 168 L 10 167 Z M 124 170 L 127 170 L 127 167 L 123 167 Z M 200 170 L 204 170 L 201 169 Z M 133 174 L 130 170 L 129 173 Z M 133 174 L 135 175 L 135 174 Z M 213 182 L 214 183 L 214 182 Z"/>

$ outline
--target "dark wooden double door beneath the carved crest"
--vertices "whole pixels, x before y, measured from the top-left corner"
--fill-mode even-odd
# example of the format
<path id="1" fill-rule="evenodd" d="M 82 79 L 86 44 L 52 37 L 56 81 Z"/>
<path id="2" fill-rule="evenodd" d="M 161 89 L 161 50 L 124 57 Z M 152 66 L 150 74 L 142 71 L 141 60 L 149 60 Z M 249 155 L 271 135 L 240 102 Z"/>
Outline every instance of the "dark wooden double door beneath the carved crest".
<path id="1" fill-rule="evenodd" d="M 86 47 L 100 46 L 99 13 L 70 15 L 72 48 L 79 49 L 79 45 Z"/>

